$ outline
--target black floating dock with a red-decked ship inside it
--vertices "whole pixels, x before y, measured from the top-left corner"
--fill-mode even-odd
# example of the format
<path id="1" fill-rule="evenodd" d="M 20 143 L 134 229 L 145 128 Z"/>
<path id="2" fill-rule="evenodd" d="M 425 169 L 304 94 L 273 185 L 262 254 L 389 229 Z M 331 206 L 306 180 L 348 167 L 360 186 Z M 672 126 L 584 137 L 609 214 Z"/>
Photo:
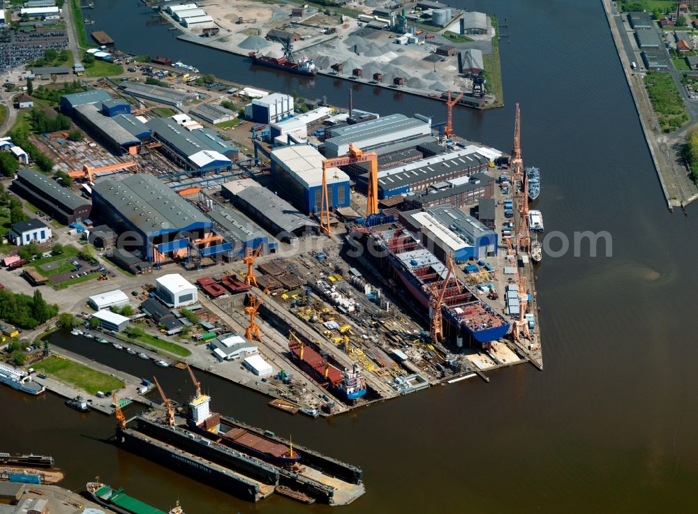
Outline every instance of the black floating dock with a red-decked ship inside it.
<path id="1" fill-rule="evenodd" d="M 333 506 L 364 494 L 361 469 L 211 412 L 211 398 L 195 386 L 177 409 L 165 398 L 164 416 L 155 409 L 126 421 L 117 409 L 117 446 L 247 501 L 265 499 L 277 486 L 286 496 Z"/>

